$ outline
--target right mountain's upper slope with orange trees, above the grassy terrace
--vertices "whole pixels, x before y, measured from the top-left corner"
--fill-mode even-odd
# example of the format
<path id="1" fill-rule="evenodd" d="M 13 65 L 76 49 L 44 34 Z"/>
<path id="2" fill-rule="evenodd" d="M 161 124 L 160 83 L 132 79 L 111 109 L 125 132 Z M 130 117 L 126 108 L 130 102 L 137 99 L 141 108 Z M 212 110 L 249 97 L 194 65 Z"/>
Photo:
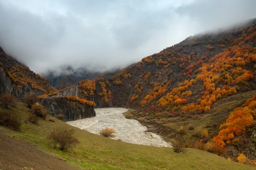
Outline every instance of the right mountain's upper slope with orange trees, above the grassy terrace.
<path id="1" fill-rule="evenodd" d="M 76 95 L 92 97 L 99 107 L 143 108 L 153 104 L 158 111 L 186 111 L 188 107 L 204 111 L 221 97 L 256 89 L 254 23 L 255 20 L 250 20 L 221 33 L 188 37 L 160 53 L 145 57 L 111 79 L 94 79 L 93 95 L 84 93 L 81 85 Z"/>

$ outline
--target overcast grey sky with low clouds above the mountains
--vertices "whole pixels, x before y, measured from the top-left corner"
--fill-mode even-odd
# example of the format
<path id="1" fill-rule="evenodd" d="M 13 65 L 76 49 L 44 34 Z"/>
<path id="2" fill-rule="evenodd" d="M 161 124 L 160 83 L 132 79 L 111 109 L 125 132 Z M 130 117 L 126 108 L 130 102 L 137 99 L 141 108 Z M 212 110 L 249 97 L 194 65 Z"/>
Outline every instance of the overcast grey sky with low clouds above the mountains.
<path id="1" fill-rule="evenodd" d="M 256 0 L 0 0 L 0 46 L 43 74 L 124 67 L 256 17 Z"/>

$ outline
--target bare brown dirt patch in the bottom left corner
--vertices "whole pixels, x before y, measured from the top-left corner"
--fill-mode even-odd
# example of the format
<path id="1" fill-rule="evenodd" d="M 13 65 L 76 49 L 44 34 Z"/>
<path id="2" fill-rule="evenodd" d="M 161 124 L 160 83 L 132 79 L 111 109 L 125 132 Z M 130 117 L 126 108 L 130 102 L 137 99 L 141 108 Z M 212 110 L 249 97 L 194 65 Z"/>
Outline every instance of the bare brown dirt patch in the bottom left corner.
<path id="1" fill-rule="evenodd" d="M 0 170 L 78 170 L 23 140 L 0 135 Z"/>

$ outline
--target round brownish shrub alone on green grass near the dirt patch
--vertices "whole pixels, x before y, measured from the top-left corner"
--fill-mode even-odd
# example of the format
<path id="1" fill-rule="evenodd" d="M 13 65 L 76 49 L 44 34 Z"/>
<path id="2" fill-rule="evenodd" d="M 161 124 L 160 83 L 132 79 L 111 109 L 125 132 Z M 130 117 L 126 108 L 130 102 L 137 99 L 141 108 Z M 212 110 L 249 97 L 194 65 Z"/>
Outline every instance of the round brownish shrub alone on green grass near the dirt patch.
<path id="1" fill-rule="evenodd" d="M 67 127 L 57 127 L 47 136 L 49 142 L 54 144 L 54 147 L 59 146 L 60 150 L 66 150 L 75 147 L 79 144 L 78 138 L 74 135 L 74 129 Z"/>

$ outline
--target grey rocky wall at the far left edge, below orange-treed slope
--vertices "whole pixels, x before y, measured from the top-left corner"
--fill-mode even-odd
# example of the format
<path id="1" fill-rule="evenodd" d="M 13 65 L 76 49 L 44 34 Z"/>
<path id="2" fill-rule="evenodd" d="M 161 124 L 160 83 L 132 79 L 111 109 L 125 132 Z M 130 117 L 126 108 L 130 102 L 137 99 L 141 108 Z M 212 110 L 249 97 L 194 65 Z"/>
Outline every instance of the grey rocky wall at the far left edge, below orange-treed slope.
<path id="1" fill-rule="evenodd" d="M 12 82 L 12 79 L 6 74 L 2 67 L 0 67 L 0 93 L 13 94 L 19 99 L 24 99 L 24 95 L 27 92 L 33 91 L 38 95 L 41 95 L 42 92 L 36 89 L 33 89 L 29 86 L 25 86 L 17 90 L 17 85 Z"/>

